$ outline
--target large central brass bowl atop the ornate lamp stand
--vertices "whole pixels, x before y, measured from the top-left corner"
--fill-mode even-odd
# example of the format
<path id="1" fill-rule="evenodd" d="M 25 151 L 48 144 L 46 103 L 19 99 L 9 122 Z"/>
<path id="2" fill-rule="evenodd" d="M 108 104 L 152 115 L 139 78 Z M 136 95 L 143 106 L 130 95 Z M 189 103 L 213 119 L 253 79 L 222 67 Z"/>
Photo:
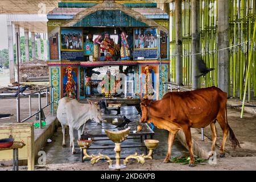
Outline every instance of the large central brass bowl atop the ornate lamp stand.
<path id="1" fill-rule="evenodd" d="M 110 131 L 105 130 L 106 135 L 108 135 L 109 139 L 112 140 L 114 143 L 121 143 L 128 137 L 130 133 L 130 127 L 125 130 L 120 131 Z"/>

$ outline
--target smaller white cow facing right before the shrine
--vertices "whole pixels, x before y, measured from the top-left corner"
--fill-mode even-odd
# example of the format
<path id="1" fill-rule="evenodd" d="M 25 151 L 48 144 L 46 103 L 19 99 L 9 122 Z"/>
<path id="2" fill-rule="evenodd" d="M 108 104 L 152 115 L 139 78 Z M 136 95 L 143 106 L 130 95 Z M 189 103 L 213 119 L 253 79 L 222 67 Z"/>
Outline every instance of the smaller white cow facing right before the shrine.
<path id="1" fill-rule="evenodd" d="M 63 146 L 65 146 L 65 127 L 69 126 L 70 146 L 72 147 L 72 154 L 75 151 L 75 137 L 73 130 L 78 131 L 79 139 L 81 138 L 82 126 L 92 119 L 97 123 L 101 123 L 101 108 L 98 104 L 93 104 L 92 101 L 87 100 L 89 104 L 81 104 L 75 99 L 63 97 L 59 100 L 57 109 L 57 119 L 61 123 L 63 133 Z"/>

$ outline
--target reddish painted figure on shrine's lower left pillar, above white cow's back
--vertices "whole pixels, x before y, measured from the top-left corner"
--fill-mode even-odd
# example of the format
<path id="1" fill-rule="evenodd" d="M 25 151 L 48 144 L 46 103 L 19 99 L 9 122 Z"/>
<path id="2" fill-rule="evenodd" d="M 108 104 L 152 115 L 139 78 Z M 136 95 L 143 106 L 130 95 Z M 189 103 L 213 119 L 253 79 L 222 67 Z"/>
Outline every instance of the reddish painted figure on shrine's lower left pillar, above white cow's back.
<path id="1" fill-rule="evenodd" d="M 69 98 L 76 98 L 76 82 L 73 80 L 73 75 L 72 75 L 72 67 L 67 67 L 66 73 L 68 77 L 68 81 L 66 83 L 65 91 L 66 91 L 66 96 Z"/>

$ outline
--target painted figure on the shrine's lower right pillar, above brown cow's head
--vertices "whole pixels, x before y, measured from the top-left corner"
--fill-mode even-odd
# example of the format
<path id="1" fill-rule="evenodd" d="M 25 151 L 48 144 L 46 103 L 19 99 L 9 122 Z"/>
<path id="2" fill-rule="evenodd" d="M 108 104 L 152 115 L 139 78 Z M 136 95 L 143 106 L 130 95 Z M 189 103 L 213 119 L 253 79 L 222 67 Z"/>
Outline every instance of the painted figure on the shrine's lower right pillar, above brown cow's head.
<path id="1" fill-rule="evenodd" d="M 152 85 L 152 68 L 147 65 L 144 68 L 144 73 L 146 74 L 146 79 L 144 81 L 144 90 L 146 92 L 146 94 L 144 94 L 144 98 L 148 98 L 151 99 L 150 97 L 153 96 L 154 94 L 154 88 Z"/>

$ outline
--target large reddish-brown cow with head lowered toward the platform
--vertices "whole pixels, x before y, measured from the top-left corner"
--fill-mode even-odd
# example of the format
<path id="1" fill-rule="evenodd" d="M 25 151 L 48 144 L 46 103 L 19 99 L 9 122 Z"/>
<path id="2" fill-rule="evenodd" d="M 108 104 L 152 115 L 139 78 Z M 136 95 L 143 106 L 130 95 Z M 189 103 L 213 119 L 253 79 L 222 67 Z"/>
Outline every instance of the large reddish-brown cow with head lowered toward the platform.
<path id="1" fill-rule="evenodd" d="M 142 100 L 141 122 L 152 122 L 159 129 L 169 131 L 168 153 L 164 163 L 168 163 L 170 160 L 172 144 L 177 131 L 183 130 L 190 153 L 189 166 L 194 167 L 191 127 L 201 128 L 210 125 L 213 140 L 212 151 L 214 151 L 217 139 L 215 126 L 217 120 L 223 131 L 220 157 L 225 156 L 224 146 L 228 131 L 232 147 L 234 149 L 237 146 L 240 147 L 233 130 L 228 125 L 226 102 L 227 94 L 215 86 L 188 92 L 170 92 L 159 101 Z"/>

